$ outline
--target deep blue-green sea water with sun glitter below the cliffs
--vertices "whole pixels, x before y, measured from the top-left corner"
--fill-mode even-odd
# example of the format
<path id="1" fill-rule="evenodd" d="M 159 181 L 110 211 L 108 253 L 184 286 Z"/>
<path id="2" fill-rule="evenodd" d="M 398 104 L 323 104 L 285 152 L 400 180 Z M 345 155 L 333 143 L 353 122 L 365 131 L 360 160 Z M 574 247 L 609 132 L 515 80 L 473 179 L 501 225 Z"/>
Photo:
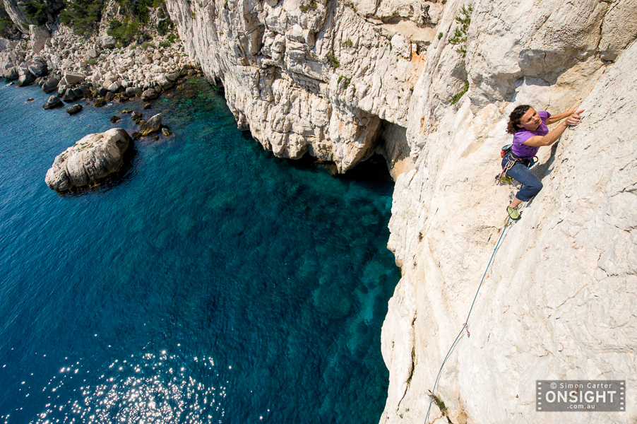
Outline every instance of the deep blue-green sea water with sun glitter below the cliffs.
<path id="1" fill-rule="evenodd" d="M 378 422 L 384 165 L 275 158 L 197 79 L 152 110 L 46 99 L 0 88 L 0 424 Z M 174 134 L 98 189 L 50 190 L 75 141 L 135 129 L 109 121 L 126 107 Z"/>

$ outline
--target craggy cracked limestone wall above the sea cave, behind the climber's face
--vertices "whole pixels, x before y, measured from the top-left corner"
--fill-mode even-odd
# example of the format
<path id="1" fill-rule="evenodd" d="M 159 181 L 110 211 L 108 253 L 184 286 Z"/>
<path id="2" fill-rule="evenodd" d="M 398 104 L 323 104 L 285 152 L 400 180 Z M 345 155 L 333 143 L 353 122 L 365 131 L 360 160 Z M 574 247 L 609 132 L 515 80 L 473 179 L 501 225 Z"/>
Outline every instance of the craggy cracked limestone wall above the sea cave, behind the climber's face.
<path id="1" fill-rule="evenodd" d="M 313 4 L 167 2 L 186 52 L 223 84 L 239 128 L 275 155 L 309 153 L 345 172 L 376 151 L 383 124 L 407 125 L 424 52 L 408 31 L 381 30 L 340 2 Z M 386 4 L 383 16 L 402 19 L 398 8 L 409 7 Z"/>

